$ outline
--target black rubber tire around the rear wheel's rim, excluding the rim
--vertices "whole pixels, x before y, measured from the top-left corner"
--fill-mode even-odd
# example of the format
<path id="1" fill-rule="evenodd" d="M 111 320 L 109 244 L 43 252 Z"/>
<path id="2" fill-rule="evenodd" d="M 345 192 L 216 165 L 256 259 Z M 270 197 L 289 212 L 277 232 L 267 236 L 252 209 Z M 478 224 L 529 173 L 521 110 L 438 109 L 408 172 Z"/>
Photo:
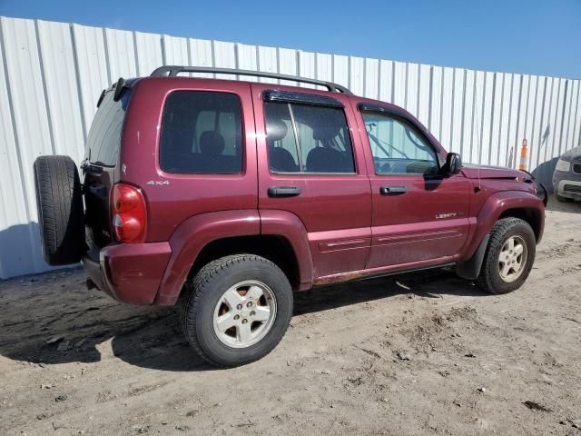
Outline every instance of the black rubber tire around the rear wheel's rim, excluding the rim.
<path id="1" fill-rule="evenodd" d="M 248 280 L 258 280 L 270 287 L 276 300 L 276 316 L 260 342 L 247 348 L 232 348 L 214 332 L 214 310 L 223 292 Z M 216 367 L 239 366 L 261 359 L 281 342 L 291 322 L 291 283 L 277 265 L 253 254 L 236 254 L 208 263 L 183 292 L 186 292 L 181 307 L 183 331 L 202 359 Z"/>

